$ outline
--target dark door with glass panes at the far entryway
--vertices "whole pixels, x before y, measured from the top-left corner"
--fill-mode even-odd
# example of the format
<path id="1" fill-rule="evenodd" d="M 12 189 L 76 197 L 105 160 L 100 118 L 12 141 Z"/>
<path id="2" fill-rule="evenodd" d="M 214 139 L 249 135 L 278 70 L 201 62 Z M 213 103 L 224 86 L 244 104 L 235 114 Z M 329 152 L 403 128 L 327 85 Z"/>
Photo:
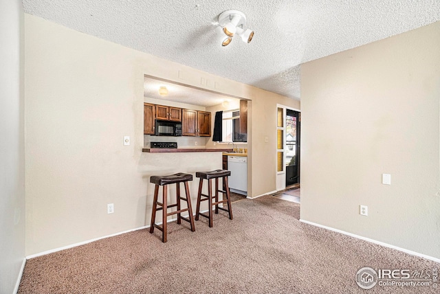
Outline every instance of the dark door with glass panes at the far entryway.
<path id="1" fill-rule="evenodd" d="M 286 186 L 300 182 L 300 113 L 286 110 Z"/>

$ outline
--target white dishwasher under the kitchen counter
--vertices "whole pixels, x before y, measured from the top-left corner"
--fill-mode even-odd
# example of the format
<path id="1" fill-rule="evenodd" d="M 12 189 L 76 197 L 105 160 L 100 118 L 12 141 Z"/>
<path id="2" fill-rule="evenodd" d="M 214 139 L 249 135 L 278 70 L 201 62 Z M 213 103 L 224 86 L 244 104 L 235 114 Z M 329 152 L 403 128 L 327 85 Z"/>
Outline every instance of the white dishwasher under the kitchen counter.
<path id="1" fill-rule="evenodd" d="M 248 157 L 228 156 L 229 188 L 231 192 L 248 195 Z"/>

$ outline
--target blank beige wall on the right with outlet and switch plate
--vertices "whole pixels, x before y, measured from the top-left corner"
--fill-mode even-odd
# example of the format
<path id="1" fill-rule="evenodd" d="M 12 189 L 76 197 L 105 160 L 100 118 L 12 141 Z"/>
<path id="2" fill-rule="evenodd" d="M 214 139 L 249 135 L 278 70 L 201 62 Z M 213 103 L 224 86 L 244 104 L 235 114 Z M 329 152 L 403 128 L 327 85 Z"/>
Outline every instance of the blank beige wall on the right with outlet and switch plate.
<path id="1" fill-rule="evenodd" d="M 301 66 L 303 220 L 440 258 L 439 48 L 434 23 Z"/>

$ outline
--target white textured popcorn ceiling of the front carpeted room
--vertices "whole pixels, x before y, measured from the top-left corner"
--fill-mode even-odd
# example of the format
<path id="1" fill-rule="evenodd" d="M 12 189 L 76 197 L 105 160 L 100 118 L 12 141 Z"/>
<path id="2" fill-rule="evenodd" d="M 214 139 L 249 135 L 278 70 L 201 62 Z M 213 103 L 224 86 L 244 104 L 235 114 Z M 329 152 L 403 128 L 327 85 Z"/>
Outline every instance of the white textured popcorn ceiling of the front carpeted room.
<path id="1" fill-rule="evenodd" d="M 217 76 L 300 99 L 299 65 L 440 20 L 439 0 L 23 0 L 25 12 Z M 251 43 L 221 47 L 240 10 Z"/>

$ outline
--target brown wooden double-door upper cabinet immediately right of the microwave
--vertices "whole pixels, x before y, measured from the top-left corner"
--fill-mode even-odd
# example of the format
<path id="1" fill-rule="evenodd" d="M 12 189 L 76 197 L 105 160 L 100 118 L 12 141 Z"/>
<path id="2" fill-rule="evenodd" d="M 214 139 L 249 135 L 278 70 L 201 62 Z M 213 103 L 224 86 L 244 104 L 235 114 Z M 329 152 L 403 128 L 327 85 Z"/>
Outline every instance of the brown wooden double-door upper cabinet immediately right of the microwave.
<path id="1" fill-rule="evenodd" d="M 211 113 L 182 109 L 181 128 L 184 136 L 210 137 Z"/>

